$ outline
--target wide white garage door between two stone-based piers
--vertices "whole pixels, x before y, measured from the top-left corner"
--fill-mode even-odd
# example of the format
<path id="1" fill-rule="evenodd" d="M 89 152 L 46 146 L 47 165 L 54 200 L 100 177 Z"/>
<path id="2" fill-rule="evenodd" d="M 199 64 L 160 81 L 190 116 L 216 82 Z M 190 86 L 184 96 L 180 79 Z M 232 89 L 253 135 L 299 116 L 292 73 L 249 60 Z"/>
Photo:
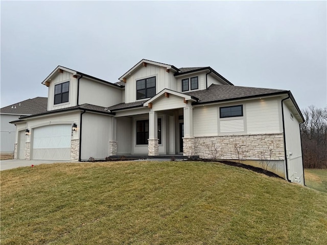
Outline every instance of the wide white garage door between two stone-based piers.
<path id="1" fill-rule="evenodd" d="M 71 160 L 71 131 L 70 124 L 35 128 L 32 159 Z"/>

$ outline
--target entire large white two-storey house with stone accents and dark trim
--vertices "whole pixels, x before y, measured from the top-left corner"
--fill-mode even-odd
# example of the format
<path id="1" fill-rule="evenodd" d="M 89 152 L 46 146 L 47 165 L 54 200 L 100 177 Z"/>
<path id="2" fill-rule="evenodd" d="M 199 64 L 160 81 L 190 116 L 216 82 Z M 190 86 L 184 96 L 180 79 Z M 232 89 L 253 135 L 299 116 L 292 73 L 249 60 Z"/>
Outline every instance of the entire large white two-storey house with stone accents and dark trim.
<path id="1" fill-rule="evenodd" d="M 145 59 L 119 80 L 58 66 L 42 82 L 48 111 L 13 122 L 15 158 L 182 154 L 268 163 L 268 170 L 303 184 L 304 119 L 290 91 L 234 86 L 211 67 Z"/>

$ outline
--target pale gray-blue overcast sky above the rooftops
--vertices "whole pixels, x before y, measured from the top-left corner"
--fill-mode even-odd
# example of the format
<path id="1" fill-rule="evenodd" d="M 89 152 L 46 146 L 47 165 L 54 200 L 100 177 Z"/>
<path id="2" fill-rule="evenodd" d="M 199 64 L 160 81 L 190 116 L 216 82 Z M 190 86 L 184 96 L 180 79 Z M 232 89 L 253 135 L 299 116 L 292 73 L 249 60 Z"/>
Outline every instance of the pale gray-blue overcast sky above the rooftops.
<path id="1" fill-rule="evenodd" d="M 48 96 L 58 65 L 114 83 L 143 58 L 327 105 L 325 1 L 0 4 L 1 107 Z"/>

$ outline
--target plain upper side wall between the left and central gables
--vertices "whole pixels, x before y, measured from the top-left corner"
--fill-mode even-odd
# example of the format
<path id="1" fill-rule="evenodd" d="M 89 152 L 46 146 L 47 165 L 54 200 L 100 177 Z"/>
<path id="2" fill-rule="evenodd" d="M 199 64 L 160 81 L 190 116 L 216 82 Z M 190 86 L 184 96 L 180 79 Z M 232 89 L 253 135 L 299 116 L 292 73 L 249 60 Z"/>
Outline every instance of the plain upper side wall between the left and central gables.
<path id="1" fill-rule="evenodd" d="M 122 103 L 122 91 L 120 88 L 92 81 L 86 78 L 80 79 L 79 104 L 91 104 L 103 107 Z"/>

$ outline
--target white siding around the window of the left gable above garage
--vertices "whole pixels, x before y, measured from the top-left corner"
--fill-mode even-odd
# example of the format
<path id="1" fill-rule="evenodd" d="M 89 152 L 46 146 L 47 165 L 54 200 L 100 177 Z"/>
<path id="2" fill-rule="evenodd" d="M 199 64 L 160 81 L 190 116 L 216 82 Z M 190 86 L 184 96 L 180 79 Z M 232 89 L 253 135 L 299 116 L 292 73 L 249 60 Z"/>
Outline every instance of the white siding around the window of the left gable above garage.
<path id="1" fill-rule="evenodd" d="M 54 104 L 55 85 L 69 81 L 69 99 L 66 103 Z M 48 111 L 76 106 L 77 100 L 77 79 L 68 71 L 58 72 L 58 75 L 50 82 L 48 88 Z"/>

